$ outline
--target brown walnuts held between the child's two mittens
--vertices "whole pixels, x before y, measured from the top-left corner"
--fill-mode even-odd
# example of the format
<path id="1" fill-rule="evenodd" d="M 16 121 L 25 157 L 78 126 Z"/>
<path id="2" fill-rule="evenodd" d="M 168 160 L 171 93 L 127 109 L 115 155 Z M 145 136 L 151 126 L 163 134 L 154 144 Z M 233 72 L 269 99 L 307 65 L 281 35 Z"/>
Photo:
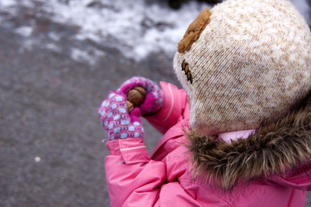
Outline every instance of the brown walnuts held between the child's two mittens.
<path id="1" fill-rule="evenodd" d="M 137 86 L 128 92 L 126 104 L 129 113 L 132 112 L 134 107 L 138 107 L 144 102 L 146 94 L 146 90 L 140 86 Z"/>

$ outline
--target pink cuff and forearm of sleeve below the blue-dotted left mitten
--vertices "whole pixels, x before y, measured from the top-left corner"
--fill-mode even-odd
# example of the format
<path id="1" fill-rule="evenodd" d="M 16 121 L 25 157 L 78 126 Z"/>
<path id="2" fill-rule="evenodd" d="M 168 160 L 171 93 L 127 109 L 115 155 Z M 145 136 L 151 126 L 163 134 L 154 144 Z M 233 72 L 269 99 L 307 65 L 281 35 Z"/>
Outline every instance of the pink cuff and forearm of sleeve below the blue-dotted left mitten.
<path id="1" fill-rule="evenodd" d="M 105 175 L 111 207 L 154 206 L 160 186 L 166 180 L 166 166 L 149 159 L 140 138 L 107 142 Z M 136 205 L 137 204 L 137 205 Z"/>

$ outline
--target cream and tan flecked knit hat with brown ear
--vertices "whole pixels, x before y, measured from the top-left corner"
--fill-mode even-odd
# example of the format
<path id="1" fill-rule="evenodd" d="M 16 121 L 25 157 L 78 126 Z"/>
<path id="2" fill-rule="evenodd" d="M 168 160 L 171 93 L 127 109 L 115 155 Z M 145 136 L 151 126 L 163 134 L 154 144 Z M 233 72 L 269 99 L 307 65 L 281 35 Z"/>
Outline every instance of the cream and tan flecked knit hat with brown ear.
<path id="1" fill-rule="evenodd" d="M 311 91 L 310 28 L 289 0 L 227 0 L 190 24 L 174 70 L 192 128 L 258 128 Z"/>

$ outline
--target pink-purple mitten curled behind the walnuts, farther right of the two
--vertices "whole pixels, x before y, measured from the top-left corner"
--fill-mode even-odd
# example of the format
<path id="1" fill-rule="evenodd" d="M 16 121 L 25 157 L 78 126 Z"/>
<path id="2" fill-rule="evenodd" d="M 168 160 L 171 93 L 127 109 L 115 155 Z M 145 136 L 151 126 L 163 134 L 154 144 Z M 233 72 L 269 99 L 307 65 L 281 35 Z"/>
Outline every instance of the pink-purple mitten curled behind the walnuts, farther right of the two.
<path id="1" fill-rule="evenodd" d="M 147 92 L 144 102 L 139 106 L 142 114 L 151 114 L 158 111 L 163 105 L 163 91 L 153 81 L 143 77 L 133 77 L 125 81 L 117 90 L 124 94 L 134 87 L 140 86 Z"/>

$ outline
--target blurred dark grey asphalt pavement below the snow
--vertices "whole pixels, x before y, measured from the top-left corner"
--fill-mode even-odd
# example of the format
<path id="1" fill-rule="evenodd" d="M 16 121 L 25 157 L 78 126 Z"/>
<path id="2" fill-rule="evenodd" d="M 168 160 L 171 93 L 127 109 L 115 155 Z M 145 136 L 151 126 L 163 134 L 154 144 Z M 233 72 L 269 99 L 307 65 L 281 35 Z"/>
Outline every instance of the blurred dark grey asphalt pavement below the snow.
<path id="1" fill-rule="evenodd" d="M 20 9 L 0 25 L 0 206 L 108 207 L 108 154 L 97 108 L 109 90 L 140 75 L 177 84 L 171 58 L 153 54 L 137 63 L 116 49 L 72 37 L 77 28 Z M 25 21 L 31 37 L 14 32 Z M 61 50 L 45 48 L 49 32 Z M 29 45 L 25 45 L 29 41 Z M 96 47 L 90 64 L 69 49 Z M 145 123 L 149 152 L 161 135 Z"/>

